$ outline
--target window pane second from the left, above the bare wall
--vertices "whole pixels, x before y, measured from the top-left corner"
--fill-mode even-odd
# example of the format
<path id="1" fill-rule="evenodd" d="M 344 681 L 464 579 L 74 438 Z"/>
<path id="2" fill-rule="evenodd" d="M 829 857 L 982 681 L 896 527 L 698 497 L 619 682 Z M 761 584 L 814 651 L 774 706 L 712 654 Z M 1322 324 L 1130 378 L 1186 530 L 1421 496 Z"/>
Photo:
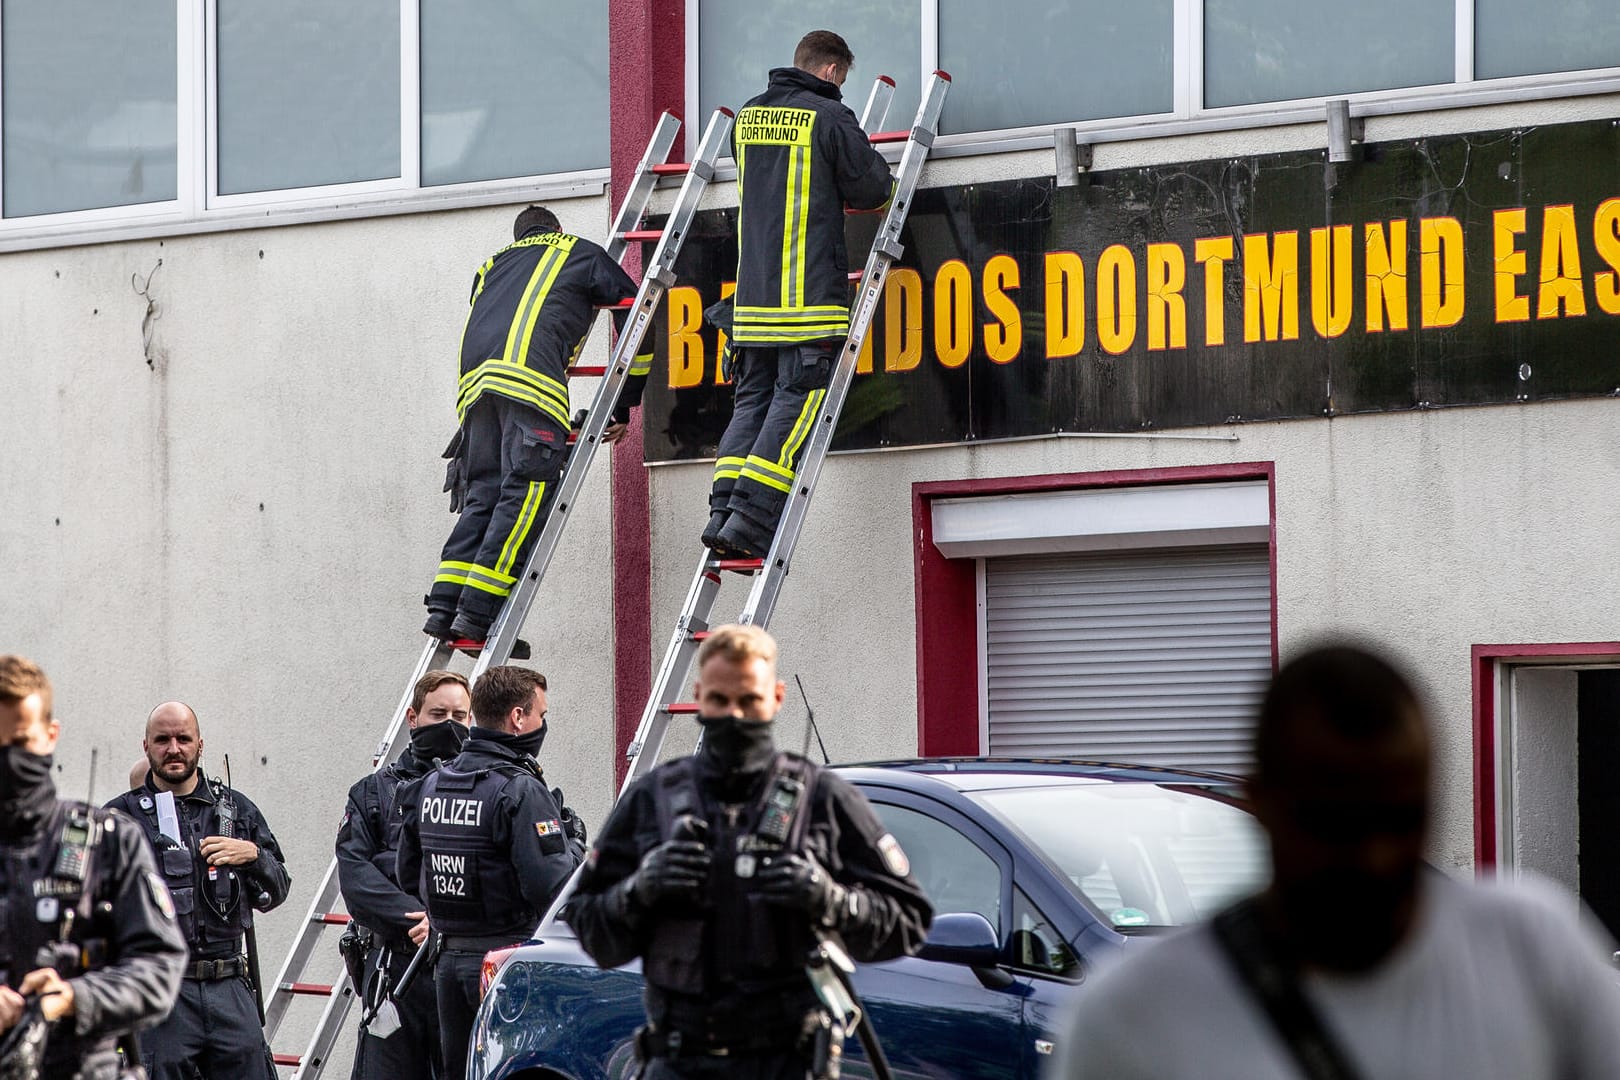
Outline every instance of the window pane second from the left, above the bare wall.
<path id="1" fill-rule="evenodd" d="M 399 0 L 219 0 L 220 194 L 399 175 Z"/>

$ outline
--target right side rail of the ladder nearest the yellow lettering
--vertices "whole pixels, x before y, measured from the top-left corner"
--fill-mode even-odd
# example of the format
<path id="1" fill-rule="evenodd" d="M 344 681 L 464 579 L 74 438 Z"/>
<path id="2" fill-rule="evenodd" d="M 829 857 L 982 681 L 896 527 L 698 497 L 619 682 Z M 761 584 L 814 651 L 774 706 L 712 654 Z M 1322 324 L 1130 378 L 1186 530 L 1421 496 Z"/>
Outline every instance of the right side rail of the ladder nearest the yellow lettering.
<path id="1" fill-rule="evenodd" d="M 826 460 L 833 434 L 838 429 L 839 411 L 844 408 L 844 398 L 847 397 L 849 385 L 855 377 L 855 363 L 860 358 L 860 347 L 865 342 L 867 330 L 872 327 L 872 317 L 876 313 L 878 300 L 883 296 L 883 283 L 888 279 L 889 267 L 904 251 L 899 241 L 901 230 L 906 227 L 906 217 L 910 212 L 910 199 L 917 189 L 917 180 L 922 176 L 922 167 L 927 160 L 928 147 L 933 146 L 935 131 L 940 125 L 940 110 L 944 105 L 944 94 L 948 89 L 949 76 L 936 71 L 933 81 L 928 84 L 928 92 L 923 96 L 922 105 L 917 108 L 917 121 L 912 125 L 910 138 L 906 141 L 906 151 L 901 155 L 901 167 L 896 175 L 894 198 L 889 204 L 889 212 L 883 217 L 878 236 L 872 243 L 872 253 L 867 256 L 867 269 L 860 277 L 860 296 L 855 301 L 855 309 L 852 313 L 849 337 L 846 338 L 844 350 L 839 355 L 838 368 L 834 369 L 833 381 L 828 385 L 826 398 L 821 403 L 821 413 L 816 418 L 815 429 L 810 434 L 804 461 L 794 478 L 794 491 L 789 494 L 787 505 L 782 508 L 782 520 L 776 529 L 776 538 L 771 541 L 771 551 L 765 559 L 761 573 L 753 580 L 753 588 L 748 591 L 748 601 L 737 620 L 740 623 L 765 627 L 776 609 L 776 599 L 781 594 L 782 580 L 787 576 L 787 567 L 792 562 L 794 546 L 799 542 L 799 533 L 804 528 L 805 515 L 810 510 L 810 495 L 815 492 L 816 481 L 821 474 L 821 465 Z"/>

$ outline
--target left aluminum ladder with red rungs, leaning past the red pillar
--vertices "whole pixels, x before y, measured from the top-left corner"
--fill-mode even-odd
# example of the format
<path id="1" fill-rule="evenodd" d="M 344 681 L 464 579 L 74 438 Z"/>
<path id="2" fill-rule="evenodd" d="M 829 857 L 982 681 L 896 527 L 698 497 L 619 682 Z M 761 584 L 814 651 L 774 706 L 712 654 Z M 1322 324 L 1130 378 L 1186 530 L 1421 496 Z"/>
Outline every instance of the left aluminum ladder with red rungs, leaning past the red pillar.
<path id="1" fill-rule="evenodd" d="M 557 505 L 552 508 L 551 517 L 546 521 L 546 528 L 536 542 L 535 554 L 530 555 L 530 560 L 525 565 L 523 586 L 522 589 L 514 589 L 512 597 L 509 597 L 509 602 L 502 609 L 501 619 L 497 619 L 491 628 L 488 641 L 428 641 L 421 651 L 421 657 L 416 661 L 416 669 L 405 683 L 405 691 L 394 709 L 394 717 L 389 721 L 389 725 L 382 732 L 382 738 L 377 742 L 377 750 L 371 761 L 373 771 L 394 761 L 405 748 L 408 740 L 405 729 L 405 709 L 410 708 L 416 680 L 429 670 L 447 667 L 450 657 L 457 651 L 478 653 L 475 677 L 491 664 L 504 664 L 512 654 L 512 644 L 517 640 L 517 628 L 523 622 L 523 614 L 526 614 L 528 604 L 533 602 L 539 576 L 544 573 L 546 563 L 551 560 L 551 552 L 557 546 L 562 526 L 567 523 L 567 510 L 578 497 L 578 491 L 585 483 L 590 463 L 601 449 L 603 431 L 608 427 L 614 405 L 619 402 L 619 393 L 629 379 L 630 361 L 635 358 L 635 350 L 640 347 L 642 338 L 651 324 L 653 311 L 658 308 L 669 287 L 674 285 L 676 257 L 680 254 L 680 246 L 685 241 L 687 225 L 697 212 L 703 189 L 714 176 L 716 162 L 729 147 L 731 113 L 727 110 L 718 110 L 710 118 L 708 130 L 703 134 L 698 154 L 693 157 L 692 164 L 664 160 L 669 157 L 671 149 L 674 149 L 679 131 L 680 120 L 674 113 L 666 112 L 659 117 L 658 125 L 653 128 L 653 138 L 646 144 L 646 154 L 637 164 L 630 189 L 625 193 L 624 202 L 619 206 L 612 232 L 604 244 L 608 254 L 611 254 L 616 261 L 624 262 L 624 256 L 630 249 L 630 244 L 658 241 L 635 298 L 612 308 L 630 311 L 630 316 L 614 343 L 608 366 L 593 368 L 575 364 L 569 368 L 570 376 L 598 376 L 601 377 L 601 382 L 596 387 L 596 397 L 591 400 L 583 431 L 580 431 L 577 437 L 570 437 L 573 449 L 569 453 L 562 489 L 557 494 Z M 643 228 L 643 219 L 659 178 L 677 175 L 685 176 L 685 180 L 680 185 L 680 193 L 676 198 L 669 222 L 659 230 Z M 348 1009 L 355 1001 L 355 986 L 350 983 L 348 973 L 343 970 L 342 963 L 337 963 L 337 976 L 332 981 L 321 981 L 311 976 L 313 965 L 318 965 L 322 960 L 330 963 L 337 952 L 335 949 L 319 949 L 324 933 L 329 928 L 342 928 L 347 925 L 348 915 L 343 913 L 343 897 L 339 889 L 337 878 L 337 860 L 334 858 L 327 863 L 326 876 L 321 878 L 321 886 L 316 889 L 314 899 L 309 902 L 309 910 L 300 925 L 293 946 L 288 949 L 287 957 L 282 960 L 280 972 L 275 975 L 275 981 L 267 988 L 269 993 L 264 996 L 264 1038 L 272 1049 L 275 1046 L 277 1035 L 282 1033 L 282 1027 L 287 1022 L 288 1009 L 295 1001 L 300 997 L 324 999 L 321 1017 L 316 1022 L 314 1033 L 309 1036 L 305 1051 L 301 1054 L 274 1054 L 277 1065 L 290 1067 L 293 1070 L 293 1080 L 314 1080 L 322 1074 L 327 1061 L 330 1059 L 332 1046 L 343 1031 L 343 1022 L 348 1017 Z"/>

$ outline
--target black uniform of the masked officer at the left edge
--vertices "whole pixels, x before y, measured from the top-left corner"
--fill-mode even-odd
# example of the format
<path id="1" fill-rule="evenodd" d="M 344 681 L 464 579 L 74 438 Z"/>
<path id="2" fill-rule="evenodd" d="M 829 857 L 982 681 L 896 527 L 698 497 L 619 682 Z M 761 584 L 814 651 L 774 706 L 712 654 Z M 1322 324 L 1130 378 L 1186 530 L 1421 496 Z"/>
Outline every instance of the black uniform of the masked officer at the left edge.
<path id="1" fill-rule="evenodd" d="M 110 1080 L 117 1043 L 157 1023 L 180 989 L 186 946 L 168 891 L 134 823 L 58 800 L 49 755 L 0 753 L 37 766 L 0 797 L 0 983 L 16 989 L 29 972 L 57 968 L 75 1014 L 52 1025 L 40 1075 Z M 66 865 L 79 852 L 83 874 Z"/>

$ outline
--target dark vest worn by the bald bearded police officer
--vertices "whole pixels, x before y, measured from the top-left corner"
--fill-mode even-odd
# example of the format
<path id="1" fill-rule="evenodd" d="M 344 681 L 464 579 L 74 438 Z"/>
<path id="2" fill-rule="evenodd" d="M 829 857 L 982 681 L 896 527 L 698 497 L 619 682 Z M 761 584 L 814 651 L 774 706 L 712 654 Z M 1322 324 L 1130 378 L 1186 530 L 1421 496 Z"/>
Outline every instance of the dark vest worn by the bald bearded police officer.
<path id="1" fill-rule="evenodd" d="M 237 800 L 230 797 L 230 789 L 212 777 L 206 777 L 209 792 L 214 795 L 217 821 L 211 832 L 202 826 L 204 836 L 222 836 L 237 839 L 240 829 Z M 175 920 L 186 944 L 199 955 L 222 955 L 230 946 L 235 949 L 241 934 L 253 929 L 253 904 L 246 897 L 246 882 L 232 866 L 209 866 L 201 853 L 193 850 L 191 840 L 177 845 L 157 824 L 157 801 L 151 792 L 131 792 L 146 821 L 146 836 L 152 842 L 152 853 L 157 861 L 157 873 L 164 876 L 168 894 L 175 899 Z M 180 832 L 190 834 L 191 823 L 181 808 L 181 798 L 175 798 L 175 814 L 180 818 Z M 123 797 L 128 811 L 130 797 Z M 207 814 L 202 808 L 198 813 Z M 212 947 L 211 947 L 212 946 Z"/>

